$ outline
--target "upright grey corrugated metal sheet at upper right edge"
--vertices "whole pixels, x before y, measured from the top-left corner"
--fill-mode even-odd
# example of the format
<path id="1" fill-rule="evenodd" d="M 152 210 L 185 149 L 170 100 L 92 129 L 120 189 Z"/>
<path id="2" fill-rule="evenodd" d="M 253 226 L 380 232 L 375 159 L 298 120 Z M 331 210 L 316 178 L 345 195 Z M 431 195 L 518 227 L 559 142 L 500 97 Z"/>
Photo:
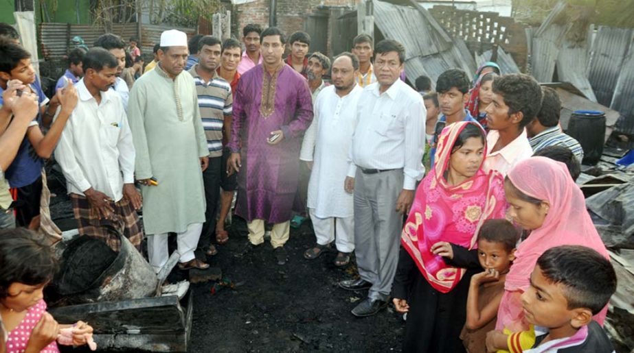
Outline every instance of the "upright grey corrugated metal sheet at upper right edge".
<path id="1" fill-rule="evenodd" d="M 611 106 L 621 64 L 631 46 L 634 29 L 600 26 L 592 42 L 588 80 L 598 103 Z"/>

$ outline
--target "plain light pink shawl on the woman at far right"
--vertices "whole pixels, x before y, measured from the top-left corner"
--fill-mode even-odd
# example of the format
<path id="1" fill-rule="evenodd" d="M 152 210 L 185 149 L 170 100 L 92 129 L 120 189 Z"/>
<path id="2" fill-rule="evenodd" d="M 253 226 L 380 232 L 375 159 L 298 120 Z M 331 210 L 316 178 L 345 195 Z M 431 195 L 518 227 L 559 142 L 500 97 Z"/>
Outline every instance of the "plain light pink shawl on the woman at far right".
<path id="1" fill-rule="evenodd" d="M 519 162 L 508 173 L 508 178 L 521 192 L 550 203 L 550 210 L 540 228 L 532 230 L 523 241 L 506 275 L 504 295 L 497 312 L 496 329 L 513 332 L 525 330 L 519 293 L 530 286 L 529 278 L 537 258 L 547 249 L 559 245 L 582 245 L 595 249 L 609 258 L 603 241 L 586 210 L 585 199 L 566 166 L 545 157 L 531 157 Z M 603 324 L 606 309 L 594 319 Z"/>

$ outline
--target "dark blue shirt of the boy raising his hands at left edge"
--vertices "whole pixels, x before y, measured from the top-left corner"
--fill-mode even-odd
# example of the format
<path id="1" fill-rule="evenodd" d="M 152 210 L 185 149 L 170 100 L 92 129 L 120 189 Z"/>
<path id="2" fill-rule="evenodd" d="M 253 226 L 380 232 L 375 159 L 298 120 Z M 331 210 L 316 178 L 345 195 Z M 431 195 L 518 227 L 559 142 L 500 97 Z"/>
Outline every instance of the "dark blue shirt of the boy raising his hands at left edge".
<path id="1" fill-rule="evenodd" d="M 44 94 L 38 77 L 35 77 L 35 82 L 30 84 L 30 87 L 34 93 L 37 93 L 40 106 L 45 106 L 49 99 Z M 4 90 L 0 88 L 0 105 L 3 104 L 1 96 L 3 91 Z M 38 121 L 40 121 L 39 112 L 33 118 L 32 125 L 30 126 L 38 125 Z M 37 156 L 29 139 L 25 136 L 20 148 L 18 149 L 18 153 L 11 165 L 5 171 L 4 175 L 6 180 L 9 182 L 9 186 L 12 188 L 20 188 L 22 186 L 32 184 L 40 178 L 42 167 L 42 158 Z"/>

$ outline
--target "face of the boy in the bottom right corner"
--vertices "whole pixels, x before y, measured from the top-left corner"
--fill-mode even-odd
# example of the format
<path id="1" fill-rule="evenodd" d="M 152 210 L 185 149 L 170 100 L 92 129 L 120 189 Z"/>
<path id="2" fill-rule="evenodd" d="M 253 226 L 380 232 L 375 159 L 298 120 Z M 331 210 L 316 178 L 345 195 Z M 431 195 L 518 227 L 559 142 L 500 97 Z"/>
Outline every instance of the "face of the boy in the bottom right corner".
<path id="1" fill-rule="evenodd" d="M 530 287 L 521 295 L 524 317 L 530 324 L 549 328 L 573 328 L 577 310 L 568 309 L 563 284 L 547 280 L 539 265 L 530 275 Z"/>

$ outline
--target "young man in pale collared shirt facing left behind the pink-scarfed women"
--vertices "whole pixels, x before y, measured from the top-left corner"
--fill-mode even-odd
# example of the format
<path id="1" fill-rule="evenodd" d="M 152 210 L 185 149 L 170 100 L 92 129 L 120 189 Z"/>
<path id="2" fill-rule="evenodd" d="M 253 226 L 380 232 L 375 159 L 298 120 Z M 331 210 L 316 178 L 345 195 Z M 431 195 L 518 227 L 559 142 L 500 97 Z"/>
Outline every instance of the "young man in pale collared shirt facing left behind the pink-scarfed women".
<path id="1" fill-rule="evenodd" d="M 506 175 L 517 163 L 530 158 L 525 126 L 541 108 L 541 88 L 534 78 L 521 73 L 493 80 L 493 101 L 486 107 L 486 159 L 484 170 Z"/>

